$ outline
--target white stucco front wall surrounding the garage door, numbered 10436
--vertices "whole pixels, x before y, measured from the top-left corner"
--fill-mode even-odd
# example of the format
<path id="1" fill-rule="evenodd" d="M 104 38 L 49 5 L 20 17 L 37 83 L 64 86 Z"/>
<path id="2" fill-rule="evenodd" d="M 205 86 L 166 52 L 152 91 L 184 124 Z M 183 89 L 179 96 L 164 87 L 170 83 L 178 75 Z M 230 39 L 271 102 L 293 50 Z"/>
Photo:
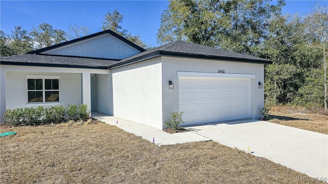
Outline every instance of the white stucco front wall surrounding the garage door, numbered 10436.
<path id="1" fill-rule="evenodd" d="M 251 117 L 262 117 L 259 107 L 264 105 L 264 88 L 258 88 L 258 82 L 264 83 L 264 65 L 240 62 L 201 60 L 189 58 L 162 57 L 162 113 L 165 122 L 171 118 L 170 111 L 179 110 L 179 78 L 177 72 L 255 74 L 251 80 Z M 174 89 L 169 89 L 169 81 L 174 82 Z M 166 125 L 163 123 L 163 127 Z"/>

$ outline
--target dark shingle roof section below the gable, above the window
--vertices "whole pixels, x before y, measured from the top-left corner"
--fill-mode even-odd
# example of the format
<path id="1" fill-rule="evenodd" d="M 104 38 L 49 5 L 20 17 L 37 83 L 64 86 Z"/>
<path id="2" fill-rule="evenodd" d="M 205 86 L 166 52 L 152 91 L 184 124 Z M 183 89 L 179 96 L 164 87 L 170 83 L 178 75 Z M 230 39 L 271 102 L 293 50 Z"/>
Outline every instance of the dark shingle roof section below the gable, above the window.
<path id="1" fill-rule="evenodd" d="M 106 69 L 106 66 L 116 64 L 117 60 L 93 59 L 69 56 L 50 56 L 36 54 L 19 54 L 2 57 L 1 64 L 10 65 L 34 65 L 34 66 L 54 66 L 54 67 L 77 67 L 77 68 L 99 68 Z"/>

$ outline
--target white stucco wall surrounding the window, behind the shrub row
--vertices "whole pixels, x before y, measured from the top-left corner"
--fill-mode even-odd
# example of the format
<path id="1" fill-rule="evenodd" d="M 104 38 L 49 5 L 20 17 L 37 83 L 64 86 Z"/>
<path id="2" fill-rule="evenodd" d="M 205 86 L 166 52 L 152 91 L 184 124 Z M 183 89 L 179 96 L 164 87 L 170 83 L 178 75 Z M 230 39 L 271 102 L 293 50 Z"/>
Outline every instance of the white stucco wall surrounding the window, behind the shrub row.
<path id="1" fill-rule="evenodd" d="M 6 108 L 53 106 L 48 103 L 27 103 L 26 75 L 59 76 L 60 105 L 81 104 L 81 75 L 68 73 L 6 72 Z"/>

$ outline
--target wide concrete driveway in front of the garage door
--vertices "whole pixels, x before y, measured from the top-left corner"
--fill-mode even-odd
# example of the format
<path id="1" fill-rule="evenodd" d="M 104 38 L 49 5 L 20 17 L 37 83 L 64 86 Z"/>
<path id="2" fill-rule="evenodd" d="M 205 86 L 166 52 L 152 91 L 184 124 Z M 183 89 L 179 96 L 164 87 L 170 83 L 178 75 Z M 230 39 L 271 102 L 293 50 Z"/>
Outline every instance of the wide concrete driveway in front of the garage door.
<path id="1" fill-rule="evenodd" d="M 328 135 L 275 123 L 243 120 L 186 127 L 229 147 L 313 177 L 328 177 Z M 325 178 L 324 178 L 325 177 Z"/>

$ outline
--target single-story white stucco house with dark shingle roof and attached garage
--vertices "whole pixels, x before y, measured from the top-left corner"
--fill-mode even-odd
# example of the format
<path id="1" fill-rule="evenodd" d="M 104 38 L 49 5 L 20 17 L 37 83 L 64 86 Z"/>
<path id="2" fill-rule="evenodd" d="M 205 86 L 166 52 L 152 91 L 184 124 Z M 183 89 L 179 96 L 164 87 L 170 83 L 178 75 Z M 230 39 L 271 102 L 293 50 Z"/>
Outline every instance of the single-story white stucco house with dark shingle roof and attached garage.
<path id="1" fill-rule="evenodd" d="M 260 119 L 270 60 L 173 41 L 145 50 L 107 30 L 1 58 L 1 122 L 6 109 L 87 104 L 91 110 L 166 128 Z"/>

